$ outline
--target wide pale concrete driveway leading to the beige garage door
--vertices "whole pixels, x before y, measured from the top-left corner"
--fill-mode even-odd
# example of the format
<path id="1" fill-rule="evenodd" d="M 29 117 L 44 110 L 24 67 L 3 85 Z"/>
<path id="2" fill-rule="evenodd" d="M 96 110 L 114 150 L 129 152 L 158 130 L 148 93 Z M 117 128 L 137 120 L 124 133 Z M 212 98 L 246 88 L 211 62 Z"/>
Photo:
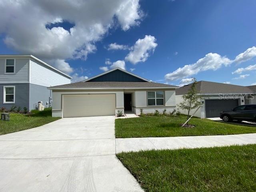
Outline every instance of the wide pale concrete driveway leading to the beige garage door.
<path id="1" fill-rule="evenodd" d="M 0 136 L 0 191 L 142 191 L 115 156 L 114 120 L 64 118 Z"/>

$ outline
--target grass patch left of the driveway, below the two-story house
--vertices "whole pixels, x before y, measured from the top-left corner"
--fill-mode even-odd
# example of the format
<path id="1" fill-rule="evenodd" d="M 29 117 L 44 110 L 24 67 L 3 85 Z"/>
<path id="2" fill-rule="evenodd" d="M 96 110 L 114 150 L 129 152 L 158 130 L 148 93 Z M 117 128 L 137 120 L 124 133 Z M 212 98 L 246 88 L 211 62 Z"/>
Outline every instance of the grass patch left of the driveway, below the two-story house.
<path id="1" fill-rule="evenodd" d="M 52 108 L 32 110 L 31 114 L 10 113 L 10 121 L 0 120 L 0 135 L 31 129 L 60 119 L 52 117 Z"/>

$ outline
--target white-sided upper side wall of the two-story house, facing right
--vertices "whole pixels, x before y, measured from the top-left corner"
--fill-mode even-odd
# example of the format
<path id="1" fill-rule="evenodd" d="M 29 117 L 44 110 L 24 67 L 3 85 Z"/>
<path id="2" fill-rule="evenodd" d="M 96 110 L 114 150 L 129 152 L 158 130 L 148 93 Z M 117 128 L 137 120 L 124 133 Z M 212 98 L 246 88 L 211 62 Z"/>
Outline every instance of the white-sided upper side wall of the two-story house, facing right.
<path id="1" fill-rule="evenodd" d="M 30 60 L 30 83 L 45 87 L 69 84 L 70 79 L 66 76 L 48 68 L 47 66 Z"/>

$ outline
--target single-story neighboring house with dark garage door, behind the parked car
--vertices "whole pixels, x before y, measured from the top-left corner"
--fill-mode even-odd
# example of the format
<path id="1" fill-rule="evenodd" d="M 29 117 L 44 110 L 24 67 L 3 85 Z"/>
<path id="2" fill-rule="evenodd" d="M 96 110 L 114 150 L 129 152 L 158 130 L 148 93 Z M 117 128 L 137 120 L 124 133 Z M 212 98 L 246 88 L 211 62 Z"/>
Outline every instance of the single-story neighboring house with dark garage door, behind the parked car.
<path id="1" fill-rule="evenodd" d="M 176 90 L 176 105 L 183 101 L 182 96 L 187 94 L 191 84 Z M 202 106 L 195 116 L 199 118 L 219 117 L 223 110 L 230 110 L 238 105 L 256 104 L 256 86 L 239 86 L 224 83 L 199 81 L 196 84 L 198 93 L 202 96 Z M 187 111 L 180 109 L 182 114 Z M 193 114 L 196 109 L 192 110 Z"/>

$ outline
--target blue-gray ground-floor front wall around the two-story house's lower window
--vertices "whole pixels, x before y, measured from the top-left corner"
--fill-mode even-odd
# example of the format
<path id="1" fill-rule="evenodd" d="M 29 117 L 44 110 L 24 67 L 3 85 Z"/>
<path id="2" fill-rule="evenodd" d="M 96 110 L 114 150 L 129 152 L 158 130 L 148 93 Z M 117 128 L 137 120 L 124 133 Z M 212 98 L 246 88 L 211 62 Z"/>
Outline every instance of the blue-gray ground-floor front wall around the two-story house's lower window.
<path id="1" fill-rule="evenodd" d="M 15 86 L 15 103 L 4 104 L 4 86 Z M 14 84 L 0 84 L 0 107 L 10 109 L 11 106 L 20 106 L 29 109 L 29 84 L 28 83 L 14 83 Z"/>

